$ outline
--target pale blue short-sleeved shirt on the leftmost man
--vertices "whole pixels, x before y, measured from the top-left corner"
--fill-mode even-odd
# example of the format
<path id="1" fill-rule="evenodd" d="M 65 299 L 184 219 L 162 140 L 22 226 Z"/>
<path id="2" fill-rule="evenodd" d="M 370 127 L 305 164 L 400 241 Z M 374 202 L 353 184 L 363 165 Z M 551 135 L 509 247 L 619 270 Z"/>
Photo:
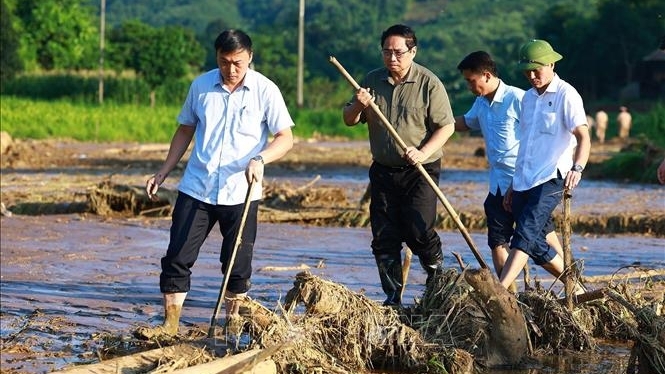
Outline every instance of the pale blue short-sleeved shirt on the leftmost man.
<path id="1" fill-rule="evenodd" d="M 197 77 L 178 115 L 195 126 L 194 148 L 178 189 L 208 204 L 237 205 L 247 195 L 245 169 L 270 134 L 294 126 L 282 94 L 264 75 L 247 70 L 243 86 L 229 92 L 219 69 Z M 254 188 L 251 200 L 262 197 Z"/>

